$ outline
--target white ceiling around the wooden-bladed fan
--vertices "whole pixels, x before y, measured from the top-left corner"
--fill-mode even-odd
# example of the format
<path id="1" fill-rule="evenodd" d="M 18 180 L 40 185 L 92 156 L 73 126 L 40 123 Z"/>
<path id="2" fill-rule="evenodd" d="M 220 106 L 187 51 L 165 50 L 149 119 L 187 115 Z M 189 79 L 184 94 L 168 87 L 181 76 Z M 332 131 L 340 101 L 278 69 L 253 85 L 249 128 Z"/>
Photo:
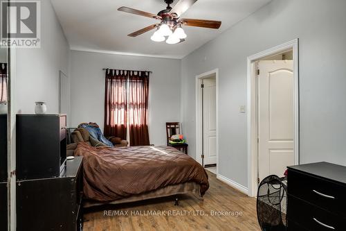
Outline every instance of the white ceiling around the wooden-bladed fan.
<path id="1" fill-rule="evenodd" d="M 158 20 L 117 10 L 120 6 L 127 6 L 157 14 L 167 6 L 163 0 L 51 1 L 73 50 L 183 58 L 271 0 L 199 0 L 182 17 L 219 20 L 222 21 L 221 28 L 213 30 L 185 26 L 188 35 L 186 41 L 173 45 L 152 42 L 150 36 L 154 31 L 138 37 L 127 37 L 127 34 Z"/>

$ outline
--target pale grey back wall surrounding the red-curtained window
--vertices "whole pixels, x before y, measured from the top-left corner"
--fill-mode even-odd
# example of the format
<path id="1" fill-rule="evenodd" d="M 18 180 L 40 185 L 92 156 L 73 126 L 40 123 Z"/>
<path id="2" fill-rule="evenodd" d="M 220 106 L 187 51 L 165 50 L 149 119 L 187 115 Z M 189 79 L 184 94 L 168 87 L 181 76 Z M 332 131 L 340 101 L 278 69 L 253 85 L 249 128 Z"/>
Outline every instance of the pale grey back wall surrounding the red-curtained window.
<path id="1" fill-rule="evenodd" d="M 133 55 L 71 51 L 71 126 L 96 122 L 103 130 L 102 68 L 152 71 L 149 78 L 149 139 L 165 145 L 165 122 L 180 121 L 181 61 Z"/>

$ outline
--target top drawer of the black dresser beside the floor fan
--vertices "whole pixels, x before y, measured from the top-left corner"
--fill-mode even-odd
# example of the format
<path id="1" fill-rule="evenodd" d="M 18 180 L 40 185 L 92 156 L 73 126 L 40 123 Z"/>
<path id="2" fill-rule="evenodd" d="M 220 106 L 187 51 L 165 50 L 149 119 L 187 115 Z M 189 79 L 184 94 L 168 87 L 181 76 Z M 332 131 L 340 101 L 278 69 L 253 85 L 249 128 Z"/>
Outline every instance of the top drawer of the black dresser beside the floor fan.
<path id="1" fill-rule="evenodd" d="M 346 187 L 338 183 L 289 170 L 288 193 L 346 217 Z"/>

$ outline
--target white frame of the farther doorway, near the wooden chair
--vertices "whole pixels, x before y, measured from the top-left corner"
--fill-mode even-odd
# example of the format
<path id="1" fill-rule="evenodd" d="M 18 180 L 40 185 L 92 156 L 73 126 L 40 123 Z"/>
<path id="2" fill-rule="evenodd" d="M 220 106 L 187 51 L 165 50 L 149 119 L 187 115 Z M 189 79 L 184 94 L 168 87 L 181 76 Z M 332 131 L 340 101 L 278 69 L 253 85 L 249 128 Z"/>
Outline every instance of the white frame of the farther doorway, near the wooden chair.
<path id="1" fill-rule="evenodd" d="M 219 175 L 219 69 L 213 69 L 196 76 L 196 160 L 202 163 L 202 121 L 201 121 L 201 80 L 212 74 L 216 76 L 216 134 L 217 134 L 217 175 Z M 204 167 L 204 166 L 203 166 Z"/>

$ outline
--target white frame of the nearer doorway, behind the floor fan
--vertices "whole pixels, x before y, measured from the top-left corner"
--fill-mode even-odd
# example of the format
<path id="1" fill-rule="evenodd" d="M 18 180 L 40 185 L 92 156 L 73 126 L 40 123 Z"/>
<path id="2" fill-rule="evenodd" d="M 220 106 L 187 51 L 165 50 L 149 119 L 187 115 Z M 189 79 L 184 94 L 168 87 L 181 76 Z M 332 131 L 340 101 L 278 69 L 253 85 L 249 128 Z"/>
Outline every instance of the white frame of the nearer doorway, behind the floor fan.
<path id="1" fill-rule="evenodd" d="M 258 118 L 257 118 L 257 81 L 255 62 L 262 58 L 293 50 L 293 123 L 294 123 L 294 162 L 299 164 L 299 40 L 291 40 L 279 46 L 275 46 L 266 51 L 256 53 L 247 58 L 247 102 L 248 102 L 248 196 L 257 195 L 257 178 L 258 178 Z"/>

